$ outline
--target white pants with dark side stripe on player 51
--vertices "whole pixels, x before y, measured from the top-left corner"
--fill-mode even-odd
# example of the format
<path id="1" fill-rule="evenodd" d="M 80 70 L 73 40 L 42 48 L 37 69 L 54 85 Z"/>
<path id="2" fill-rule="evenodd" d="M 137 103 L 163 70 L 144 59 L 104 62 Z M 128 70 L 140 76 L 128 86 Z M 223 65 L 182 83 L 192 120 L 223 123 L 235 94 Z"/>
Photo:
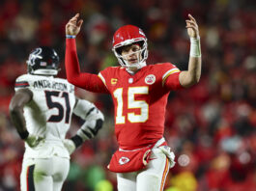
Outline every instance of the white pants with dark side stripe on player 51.
<path id="1" fill-rule="evenodd" d="M 20 175 L 21 191 L 61 191 L 70 170 L 70 159 L 52 158 L 23 159 Z"/>

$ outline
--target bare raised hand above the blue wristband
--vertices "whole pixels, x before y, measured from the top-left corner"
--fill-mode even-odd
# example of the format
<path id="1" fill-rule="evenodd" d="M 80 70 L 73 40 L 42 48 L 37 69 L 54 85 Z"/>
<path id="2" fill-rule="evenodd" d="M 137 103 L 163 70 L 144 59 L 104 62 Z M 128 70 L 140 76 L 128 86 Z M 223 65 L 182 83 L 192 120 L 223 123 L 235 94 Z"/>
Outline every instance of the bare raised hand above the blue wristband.
<path id="1" fill-rule="evenodd" d="M 76 36 L 79 33 L 83 20 L 82 19 L 78 20 L 78 17 L 79 17 L 79 14 L 75 14 L 70 19 L 70 21 L 66 24 L 66 35 Z"/>

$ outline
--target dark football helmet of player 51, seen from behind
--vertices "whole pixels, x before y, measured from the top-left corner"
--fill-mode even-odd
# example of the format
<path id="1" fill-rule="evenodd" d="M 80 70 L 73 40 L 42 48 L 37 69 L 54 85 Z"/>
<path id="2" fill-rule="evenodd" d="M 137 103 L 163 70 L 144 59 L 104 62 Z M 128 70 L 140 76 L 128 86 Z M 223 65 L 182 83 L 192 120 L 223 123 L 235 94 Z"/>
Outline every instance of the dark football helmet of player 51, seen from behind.
<path id="1" fill-rule="evenodd" d="M 28 73 L 36 75 L 57 75 L 60 59 L 53 48 L 37 47 L 31 51 L 27 60 Z"/>

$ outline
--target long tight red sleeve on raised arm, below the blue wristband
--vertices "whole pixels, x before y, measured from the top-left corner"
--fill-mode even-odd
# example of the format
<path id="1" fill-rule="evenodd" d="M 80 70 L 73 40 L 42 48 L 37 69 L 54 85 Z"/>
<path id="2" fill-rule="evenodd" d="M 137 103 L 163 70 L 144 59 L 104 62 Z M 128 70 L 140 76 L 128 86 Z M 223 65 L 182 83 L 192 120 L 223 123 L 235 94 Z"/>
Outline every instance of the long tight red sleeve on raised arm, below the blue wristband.
<path id="1" fill-rule="evenodd" d="M 94 93 L 108 93 L 97 74 L 80 72 L 74 39 L 66 40 L 65 66 L 67 79 L 74 86 Z"/>

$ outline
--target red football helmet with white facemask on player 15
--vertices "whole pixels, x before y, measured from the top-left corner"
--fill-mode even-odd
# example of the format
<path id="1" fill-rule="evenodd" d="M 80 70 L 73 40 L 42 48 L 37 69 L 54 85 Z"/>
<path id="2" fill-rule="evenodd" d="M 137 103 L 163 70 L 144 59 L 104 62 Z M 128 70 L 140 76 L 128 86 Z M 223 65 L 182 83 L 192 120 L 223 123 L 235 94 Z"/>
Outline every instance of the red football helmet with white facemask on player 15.
<path id="1" fill-rule="evenodd" d="M 141 49 L 139 53 L 141 54 L 141 60 L 137 64 L 132 66 L 128 64 L 128 61 L 121 55 L 118 49 L 124 45 L 128 45 L 134 42 L 141 44 Z M 113 38 L 113 52 L 118 59 L 119 64 L 122 67 L 136 67 L 141 68 L 143 65 L 146 65 L 145 61 L 148 58 L 148 44 L 147 38 L 143 31 L 133 25 L 125 25 L 120 27 L 114 34 Z"/>

